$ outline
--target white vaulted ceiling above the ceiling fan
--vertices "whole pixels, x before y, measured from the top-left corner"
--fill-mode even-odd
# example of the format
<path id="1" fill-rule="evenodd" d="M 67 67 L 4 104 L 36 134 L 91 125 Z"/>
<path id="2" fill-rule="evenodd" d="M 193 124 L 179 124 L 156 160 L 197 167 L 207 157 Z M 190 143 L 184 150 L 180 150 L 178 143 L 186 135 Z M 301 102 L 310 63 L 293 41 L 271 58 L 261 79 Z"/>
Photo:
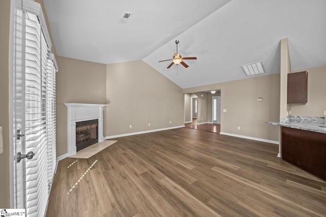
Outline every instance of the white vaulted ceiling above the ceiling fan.
<path id="1" fill-rule="evenodd" d="M 326 65 L 325 0 L 44 0 L 57 54 L 110 64 L 143 60 L 181 88 L 243 79 L 262 61 L 280 72 L 280 39 L 292 70 Z M 133 15 L 118 23 L 123 12 Z M 167 66 L 176 51 L 189 65 Z M 261 76 L 261 75 L 255 75 Z"/>

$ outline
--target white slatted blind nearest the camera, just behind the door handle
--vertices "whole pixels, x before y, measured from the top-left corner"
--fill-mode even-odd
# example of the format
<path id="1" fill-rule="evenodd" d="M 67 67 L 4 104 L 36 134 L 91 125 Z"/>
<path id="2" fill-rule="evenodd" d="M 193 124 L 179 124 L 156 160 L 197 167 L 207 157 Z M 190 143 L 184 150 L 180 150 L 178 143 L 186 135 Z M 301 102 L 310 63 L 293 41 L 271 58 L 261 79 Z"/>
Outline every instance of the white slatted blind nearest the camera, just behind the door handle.
<path id="1" fill-rule="evenodd" d="M 25 13 L 26 212 L 43 216 L 48 198 L 45 38 L 36 15 Z"/>

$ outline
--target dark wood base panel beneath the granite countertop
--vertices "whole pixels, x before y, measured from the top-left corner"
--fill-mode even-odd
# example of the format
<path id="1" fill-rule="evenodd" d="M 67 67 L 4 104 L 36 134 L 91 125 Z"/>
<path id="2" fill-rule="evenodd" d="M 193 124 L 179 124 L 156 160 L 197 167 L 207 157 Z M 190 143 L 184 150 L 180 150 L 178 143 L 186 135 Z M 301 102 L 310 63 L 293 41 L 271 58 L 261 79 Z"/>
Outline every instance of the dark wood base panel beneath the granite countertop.
<path id="1" fill-rule="evenodd" d="M 283 126 L 281 130 L 282 159 L 326 180 L 326 134 Z"/>

